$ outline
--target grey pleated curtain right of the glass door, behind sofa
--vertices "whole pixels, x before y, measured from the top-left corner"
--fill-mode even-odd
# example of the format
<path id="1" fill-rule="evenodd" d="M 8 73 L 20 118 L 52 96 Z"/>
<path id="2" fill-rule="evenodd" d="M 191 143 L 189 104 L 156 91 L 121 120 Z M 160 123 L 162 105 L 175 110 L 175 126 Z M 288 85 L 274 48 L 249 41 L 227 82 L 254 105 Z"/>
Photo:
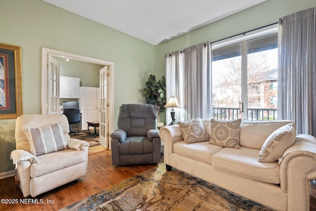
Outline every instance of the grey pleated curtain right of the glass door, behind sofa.
<path id="1" fill-rule="evenodd" d="M 316 7 L 280 20 L 278 119 L 316 135 Z"/>

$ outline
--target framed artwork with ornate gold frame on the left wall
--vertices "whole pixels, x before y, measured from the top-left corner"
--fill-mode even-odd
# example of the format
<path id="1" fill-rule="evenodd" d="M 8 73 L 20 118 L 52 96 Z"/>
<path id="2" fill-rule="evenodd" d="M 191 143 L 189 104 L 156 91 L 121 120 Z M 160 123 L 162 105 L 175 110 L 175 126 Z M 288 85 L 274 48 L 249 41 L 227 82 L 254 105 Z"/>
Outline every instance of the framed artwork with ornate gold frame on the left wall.
<path id="1" fill-rule="evenodd" d="M 22 113 L 21 47 L 0 43 L 0 120 Z"/>

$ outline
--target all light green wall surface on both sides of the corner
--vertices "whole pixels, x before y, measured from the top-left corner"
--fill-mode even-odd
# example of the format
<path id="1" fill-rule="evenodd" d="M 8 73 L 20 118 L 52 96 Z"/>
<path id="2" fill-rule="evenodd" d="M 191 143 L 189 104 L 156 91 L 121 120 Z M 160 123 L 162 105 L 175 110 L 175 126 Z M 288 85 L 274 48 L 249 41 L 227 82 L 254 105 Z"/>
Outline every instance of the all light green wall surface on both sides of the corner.
<path id="1" fill-rule="evenodd" d="M 117 119 L 120 104 L 145 103 L 144 84 L 150 74 L 158 79 L 165 75 L 166 53 L 276 23 L 285 15 L 316 6 L 316 0 L 267 0 L 156 46 L 41 0 L 0 0 L 0 5 L 0 42 L 22 47 L 24 114 L 40 114 L 40 52 L 47 47 L 115 62 Z M 9 160 L 15 149 L 14 128 L 15 120 L 0 121 L 0 172 L 14 169 Z"/>

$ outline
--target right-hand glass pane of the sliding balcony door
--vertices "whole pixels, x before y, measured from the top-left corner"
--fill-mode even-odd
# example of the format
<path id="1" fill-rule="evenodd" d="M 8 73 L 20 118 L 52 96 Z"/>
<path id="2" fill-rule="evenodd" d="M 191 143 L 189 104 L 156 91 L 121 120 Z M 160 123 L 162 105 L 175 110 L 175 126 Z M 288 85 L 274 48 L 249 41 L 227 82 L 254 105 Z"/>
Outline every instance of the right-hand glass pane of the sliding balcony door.
<path id="1" fill-rule="evenodd" d="M 247 118 L 276 120 L 277 35 L 247 42 Z"/>

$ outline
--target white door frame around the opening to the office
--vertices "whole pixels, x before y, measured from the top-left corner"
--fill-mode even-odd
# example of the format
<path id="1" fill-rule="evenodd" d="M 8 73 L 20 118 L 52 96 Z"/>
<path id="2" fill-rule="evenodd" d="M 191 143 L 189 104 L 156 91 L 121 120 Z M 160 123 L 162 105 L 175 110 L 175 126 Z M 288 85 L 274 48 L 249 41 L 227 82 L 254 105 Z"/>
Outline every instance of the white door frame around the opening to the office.
<path id="1" fill-rule="evenodd" d="M 71 58 L 75 60 L 79 60 L 82 62 L 92 63 L 92 64 L 99 64 L 104 66 L 109 66 L 108 69 L 108 100 L 107 103 L 109 105 L 108 111 L 109 115 L 109 129 L 110 131 L 107 131 L 108 134 L 110 134 L 112 131 L 114 131 L 114 62 L 109 62 L 106 60 L 96 59 L 92 57 L 82 56 L 78 54 L 68 53 L 60 50 L 54 50 L 50 48 L 41 48 L 41 113 L 46 114 L 46 104 L 47 104 L 47 56 L 59 56 L 59 57 L 65 57 L 65 58 Z M 108 135 L 106 134 L 106 135 Z"/>

